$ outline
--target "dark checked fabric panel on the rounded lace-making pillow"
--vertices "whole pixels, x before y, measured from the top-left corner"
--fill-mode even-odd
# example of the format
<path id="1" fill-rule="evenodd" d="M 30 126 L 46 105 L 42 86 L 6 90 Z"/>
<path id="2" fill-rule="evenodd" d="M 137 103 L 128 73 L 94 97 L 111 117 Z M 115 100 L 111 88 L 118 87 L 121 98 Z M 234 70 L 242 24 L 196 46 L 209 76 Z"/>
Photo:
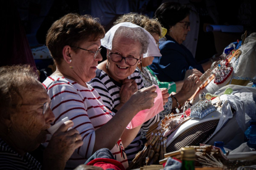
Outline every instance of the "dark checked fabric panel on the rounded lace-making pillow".
<path id="1" fill-rule="evenodd" d="M 202 140 L 206 140 L 212 132 L 215 131 L 219 120 L 207 121 L 190 127 L 186 131 L 182 132 L 176 139 L 167 146 L 166 152 L 174 152 L 182 147 L 189 145 L 198 145 Z"/>

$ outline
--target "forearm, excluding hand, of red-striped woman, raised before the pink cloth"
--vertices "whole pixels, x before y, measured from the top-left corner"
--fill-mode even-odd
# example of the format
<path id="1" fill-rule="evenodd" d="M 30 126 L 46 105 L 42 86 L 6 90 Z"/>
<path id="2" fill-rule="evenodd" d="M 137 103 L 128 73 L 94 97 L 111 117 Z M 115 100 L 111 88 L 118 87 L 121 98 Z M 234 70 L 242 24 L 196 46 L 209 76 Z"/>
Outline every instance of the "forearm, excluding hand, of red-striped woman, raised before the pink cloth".
<path id="1" fill-rule="evenodd" d="M 135 106 L 130 105 L 129 102 L 124 104 L 123 107 L 117 111 L 116 115 L 108 121 L 108 123 L 95 131 L 95 145 L 93 153 L 100 148 L 109 148 L 109 150 L 111 150 L 116 142 L 121 138 L 132 118 L 134 118 L 139 111 L 140 110 Z M 109 135 L 110 132 L 111 135 Z"/>

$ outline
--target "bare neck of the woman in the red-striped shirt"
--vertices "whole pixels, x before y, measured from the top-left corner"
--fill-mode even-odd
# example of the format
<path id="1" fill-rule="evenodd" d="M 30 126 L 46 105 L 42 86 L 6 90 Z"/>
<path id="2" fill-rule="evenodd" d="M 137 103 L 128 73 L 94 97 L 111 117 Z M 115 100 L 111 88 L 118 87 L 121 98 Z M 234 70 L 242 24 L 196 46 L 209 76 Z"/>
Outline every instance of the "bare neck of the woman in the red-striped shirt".
<path id="1" fill-rule="evenodd" d="M 75 81 L 82 86 L 88 87 L 85 81 L 83 81 L 82 78 L 77 75 L 74 68 L 67 67 L 67 69 L 63 69 L 57 66 L 56 71 L 53 73 L 53 75 L 63 76 L 64 78 L 71 79 L 72 81 Z"/>

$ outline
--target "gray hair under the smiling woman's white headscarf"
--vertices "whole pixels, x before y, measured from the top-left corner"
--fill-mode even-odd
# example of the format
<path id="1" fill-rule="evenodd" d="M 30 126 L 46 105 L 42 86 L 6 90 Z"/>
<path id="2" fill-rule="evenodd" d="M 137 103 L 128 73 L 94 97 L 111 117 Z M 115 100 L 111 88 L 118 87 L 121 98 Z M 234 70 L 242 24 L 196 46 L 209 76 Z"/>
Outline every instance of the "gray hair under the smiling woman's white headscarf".
<path id="1" fill-rule="evenodd" d="M 140 27 L 130 28 L 127 26 L 119 26 L 119 28 L 116 30 L 116 33 L 114 34 L 113 39 L 116 37 L 125 37 L 134 41 L 139 41 L 142 47 L 140 54 L 145 54 L 148 50 L 149 36 Z"/>

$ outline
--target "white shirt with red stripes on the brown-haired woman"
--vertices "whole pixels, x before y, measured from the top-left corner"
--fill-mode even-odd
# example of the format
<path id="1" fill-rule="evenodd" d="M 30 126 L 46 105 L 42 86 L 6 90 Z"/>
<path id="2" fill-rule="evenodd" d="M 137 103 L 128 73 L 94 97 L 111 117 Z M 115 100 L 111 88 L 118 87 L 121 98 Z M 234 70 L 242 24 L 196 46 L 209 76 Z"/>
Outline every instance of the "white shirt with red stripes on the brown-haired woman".
<path id="1" fill-rule="evenodd" d="M 51 109 L 56 117 L 53 124 L 68 117 L 74 122 L 72 128 L 77 129 L 82 136 L 82 147 L 77 148 L 66 163 L 65 169 L 74 169 L 92 156 L 95 130 L 106 124 L 112 118 L 112 113 L 102 104 L 100 95 L 89 84 L 87 88 L 61 76 L 50 76 L 43 82 L 43 86 L 52 101 Z M 50 137 L 49 135 L 48 142 Z M 46 142 L 45 145 L 47 144 Z M 127 168 L 121 139 L 114 145 L 111 153 Z"/>

